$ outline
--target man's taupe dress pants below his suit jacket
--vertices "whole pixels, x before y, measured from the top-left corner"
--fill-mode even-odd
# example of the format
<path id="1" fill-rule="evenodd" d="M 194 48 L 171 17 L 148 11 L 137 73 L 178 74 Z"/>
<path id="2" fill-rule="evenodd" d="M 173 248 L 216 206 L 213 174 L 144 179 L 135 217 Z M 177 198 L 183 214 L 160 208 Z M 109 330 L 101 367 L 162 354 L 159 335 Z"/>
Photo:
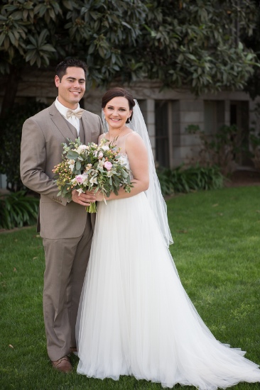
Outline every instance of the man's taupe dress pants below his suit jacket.
<path id="1" fill-rule="evenodd" d="M 43 238 L 45 273 L 43 315 L 50 360 L 67 355 L 76 346 L 75 325 L 92 241 L 90 214 L 77 238 Z"/>

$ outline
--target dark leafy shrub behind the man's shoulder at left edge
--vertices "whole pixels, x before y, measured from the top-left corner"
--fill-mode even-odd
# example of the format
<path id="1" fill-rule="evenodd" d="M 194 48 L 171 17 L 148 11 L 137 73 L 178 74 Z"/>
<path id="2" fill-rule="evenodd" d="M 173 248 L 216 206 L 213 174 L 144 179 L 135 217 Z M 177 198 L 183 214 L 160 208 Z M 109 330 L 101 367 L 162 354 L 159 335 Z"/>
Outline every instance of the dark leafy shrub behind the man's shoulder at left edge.
<path id="1" fill-rule="evenodd" d="M 28 99 L 26 104 L 14 104 L 1 120 L 0 173 L 6 174 L 7 189 L 24 189 L 20 177 L 20 145 L 23 122 L 46 108 L 47 105 Z"/>

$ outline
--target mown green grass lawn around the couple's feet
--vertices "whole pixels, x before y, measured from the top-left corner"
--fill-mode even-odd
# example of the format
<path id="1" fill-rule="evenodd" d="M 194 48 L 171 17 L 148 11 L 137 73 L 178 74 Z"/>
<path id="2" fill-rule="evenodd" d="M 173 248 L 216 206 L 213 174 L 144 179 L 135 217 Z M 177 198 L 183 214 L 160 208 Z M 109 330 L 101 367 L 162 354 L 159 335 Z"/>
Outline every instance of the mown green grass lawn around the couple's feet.
<path id="1" fill-rule="evenodd" d="M 168 201 L 170 250 L 183 286 L 215 337 L 260 364 L 260 187 L 180 195 Z M 55 372 L 45 349 L 44 254 L 35 228 L 0 234 L 0 388 L 159 390 L 132 377 Z M 12 346 L 12 347 L 11 347 Z M 76 366 L 77 358 L 72 357 Z M 232 389 L 259 390 L 260 384 Z M 175 386 L 193 390 L 190 386 Z"/>

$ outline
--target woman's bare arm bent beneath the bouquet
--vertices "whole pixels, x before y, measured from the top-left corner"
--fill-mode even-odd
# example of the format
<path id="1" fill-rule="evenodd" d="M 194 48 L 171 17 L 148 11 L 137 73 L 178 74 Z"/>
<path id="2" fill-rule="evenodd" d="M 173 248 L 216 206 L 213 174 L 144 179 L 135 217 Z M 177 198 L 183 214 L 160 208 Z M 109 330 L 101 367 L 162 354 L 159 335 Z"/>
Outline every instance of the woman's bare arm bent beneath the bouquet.
<path id="1" fill-rule="evenodd" d="M 134 179 L 131 183 L 134 185 L 131 192 L 124 191 L 124 188 L 119 189 L 118 195 L 111 193 L 107 200 L 129 198 L 139 194 L 142 191 L 146 191 L 149 186 L 149 174 L 148 174 L 148 155 L 146 147 L 137 133 L 131 133 L 126 138 L 126 155 L 129 158 L 131 172 Z M 102 194 L 96 195 L 97 201 L 103 201 L 104 196 Z"/>

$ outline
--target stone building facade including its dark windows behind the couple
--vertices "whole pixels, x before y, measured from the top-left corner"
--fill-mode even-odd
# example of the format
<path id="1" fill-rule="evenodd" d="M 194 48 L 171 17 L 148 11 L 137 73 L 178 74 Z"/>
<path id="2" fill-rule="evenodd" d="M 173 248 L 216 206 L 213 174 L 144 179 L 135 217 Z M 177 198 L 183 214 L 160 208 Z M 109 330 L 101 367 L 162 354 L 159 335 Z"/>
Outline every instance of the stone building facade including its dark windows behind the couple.
<path id="1" fill-rule="evenodd" d="M 163 167 L 189 165 L 192 160 L 196 160 L 200 150 L 200 138 L 198 135 L 188 133 L 187 128 L 190 125 L 200 126 L 200 129 L 210 136 L 217 133 L 223 124 L 235 124 L 242 134 L 244 150 L 249 149 L 250 129 L 254 127 L 259 131 L 255 110 L 260 98 L 252 101 L 249 94 L 244 91 L 221 91 L 196 97 L 185 89 L 161 90 L 161 84 L 158 82 L 135 82 L 124 87 L 139 101 L 153 147 L 153 155 Z M 100 89 L 86 91 L 80 105 L 100 115 L 103 94 L 104 90 Z M 54 71 L 27 70 L 21 74 L 17 102 L 24 103 L 30 99 L 37 99 L 45 104 L 52 104 L 56 96 Z M 249 157 L 243 153 L 237 156 L 237 164 L 252 165 Z M 5 178 L 2 175 L 0 188 L 5 186 Z"/>

